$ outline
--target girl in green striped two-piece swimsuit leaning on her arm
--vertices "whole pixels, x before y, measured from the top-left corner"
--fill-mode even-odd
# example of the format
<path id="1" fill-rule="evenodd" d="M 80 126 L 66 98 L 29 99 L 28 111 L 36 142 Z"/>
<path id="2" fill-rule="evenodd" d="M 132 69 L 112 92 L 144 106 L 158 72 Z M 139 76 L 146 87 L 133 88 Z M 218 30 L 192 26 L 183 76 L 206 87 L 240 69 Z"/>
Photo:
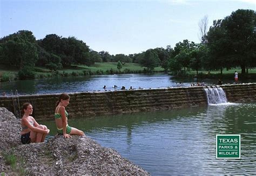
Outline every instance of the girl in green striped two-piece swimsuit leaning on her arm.
<path id="1" fill-rule="evenodd" d="M 56 102 L 55 122 L 58 135 L 70 138 L 70 135 L 84 136 L 84 132 L 68 125 L 68 112 L 66 106 L 69 105 L 70 96 L 68 94 L 60 94 L 59 100 Z"/>

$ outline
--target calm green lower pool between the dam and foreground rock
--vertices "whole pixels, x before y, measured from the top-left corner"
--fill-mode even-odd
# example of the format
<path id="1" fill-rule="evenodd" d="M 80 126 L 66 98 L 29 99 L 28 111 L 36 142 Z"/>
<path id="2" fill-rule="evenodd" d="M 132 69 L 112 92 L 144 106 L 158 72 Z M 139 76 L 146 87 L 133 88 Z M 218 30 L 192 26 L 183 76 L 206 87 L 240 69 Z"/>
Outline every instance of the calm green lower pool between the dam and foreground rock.
<path id="1" fill-rule="evenodd" d="M 256 103 L 69 119 L 152 175 L 256 174 Z M 41 122 L 55 135 L 55 122 Z M 241 159 L 215 159 L 215 135 L 240 134 Z"/>

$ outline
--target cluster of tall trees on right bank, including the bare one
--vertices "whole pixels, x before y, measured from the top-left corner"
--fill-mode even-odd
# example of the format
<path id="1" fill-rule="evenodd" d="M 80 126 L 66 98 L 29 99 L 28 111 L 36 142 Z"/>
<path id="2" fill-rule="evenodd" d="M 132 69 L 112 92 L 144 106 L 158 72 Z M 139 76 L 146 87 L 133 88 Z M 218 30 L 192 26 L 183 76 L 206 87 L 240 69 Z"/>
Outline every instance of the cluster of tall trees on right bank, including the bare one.
<path id="1" fill-rule="evenodd" d="M 168 60 L 169 69 L 180 73 L 190 68 L 220 70 L 240 67 L 241 73 L 256 66 L 256 13 L 238 9 L 224 19 L 213 21 L 205 32 L 206 21 L 200 21 L 201 44 L 184 40 L 176 44 Z"/>

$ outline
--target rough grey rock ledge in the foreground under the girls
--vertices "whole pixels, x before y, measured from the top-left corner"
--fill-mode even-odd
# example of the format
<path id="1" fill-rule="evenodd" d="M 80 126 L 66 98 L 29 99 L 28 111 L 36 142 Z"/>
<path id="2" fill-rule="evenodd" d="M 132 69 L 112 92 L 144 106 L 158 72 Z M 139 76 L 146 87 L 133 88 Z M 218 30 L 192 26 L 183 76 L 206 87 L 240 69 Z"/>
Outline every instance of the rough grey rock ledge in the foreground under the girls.
<path id="1" fill-rule="evenodd" d="M 46 143 L 22 145 L 20 120 L 0 108 L 0 170 L 15 173 L 3 155 L 15 156 L 26 175 L 149 175 L 120 154 L 86 136 L 55 136 Z"/>

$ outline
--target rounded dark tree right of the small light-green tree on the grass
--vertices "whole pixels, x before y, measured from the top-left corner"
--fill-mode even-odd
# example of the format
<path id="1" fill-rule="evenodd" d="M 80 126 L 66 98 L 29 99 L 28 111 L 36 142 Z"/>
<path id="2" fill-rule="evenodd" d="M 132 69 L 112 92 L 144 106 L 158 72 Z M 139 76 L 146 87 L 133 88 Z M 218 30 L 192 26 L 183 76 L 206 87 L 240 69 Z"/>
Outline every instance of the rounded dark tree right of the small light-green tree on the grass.
<path id="1" fill-rule="evenodd" d="M 145 52 L 144 57 L 139 60 L 139 64 L 143 67 L 147 67 L 147 73 L 149 73 L 150 70 L 153 70 L 154 67 L 159 66 L 160 60 L 158 58 L 157 53 L 149 49 Z"/>

